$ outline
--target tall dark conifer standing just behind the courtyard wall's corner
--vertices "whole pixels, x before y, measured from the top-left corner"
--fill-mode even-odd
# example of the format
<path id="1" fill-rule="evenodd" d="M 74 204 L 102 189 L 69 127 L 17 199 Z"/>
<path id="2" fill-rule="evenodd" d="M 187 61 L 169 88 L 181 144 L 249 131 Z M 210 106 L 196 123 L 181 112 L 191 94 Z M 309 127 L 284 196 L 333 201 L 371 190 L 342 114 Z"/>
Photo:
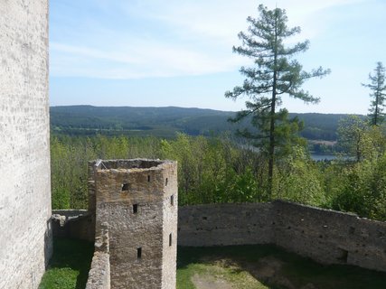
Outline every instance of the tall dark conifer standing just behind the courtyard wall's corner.
<path id="1" fill-rule="evenodd" d="M 253 67 L 241 67 L 240 73 L 246 77 L 241 86 L 225 93 L 226 98 L 247 96 L 246 109 L 241 110 L 232 121 L 251 117 L 258 133 L 248 130 L 240 135 L 254 139 L 262 153 L 268 154 L 268 192 L 272 193 L 272 178 L 275 157 L 283 153 L 298 141 L 297 131 L 302 124 L 297 119 L 287 118 L 287 109 L 277 108 L 282 104 L 282 96 L 299 98 L 306 103 L 317 103 L 307 91 L 301 89 L 306 79 L 323 77 L 329 70 L 319 67 L 311 72 L 302 70 L 302 66 L 293 56 L 308 49 L 309 42 L 298 42 L 287 47 L 288 37 L 300 33 L 299 27 L 287 27 L 287 15 L 283 9 L 268 10 L 259 5 L 259 18 L 248 17 L 248 33 L 239 33 L 242 45 L 233 47 L 233 51 L 247 56 L 254 61 Z"/>

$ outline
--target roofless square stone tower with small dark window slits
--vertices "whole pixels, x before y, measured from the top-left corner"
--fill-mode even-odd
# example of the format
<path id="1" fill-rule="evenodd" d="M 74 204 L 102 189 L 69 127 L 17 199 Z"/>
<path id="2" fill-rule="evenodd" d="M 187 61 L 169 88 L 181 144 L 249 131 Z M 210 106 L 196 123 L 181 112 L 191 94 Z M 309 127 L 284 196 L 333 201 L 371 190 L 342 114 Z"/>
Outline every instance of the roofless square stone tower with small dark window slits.
<path id="1" fill-rule="evenodd" d="M 176 163 L 99 160 L 89 172 L 96 229 L 108 228 L 111 288 L 175 289 Z"/>

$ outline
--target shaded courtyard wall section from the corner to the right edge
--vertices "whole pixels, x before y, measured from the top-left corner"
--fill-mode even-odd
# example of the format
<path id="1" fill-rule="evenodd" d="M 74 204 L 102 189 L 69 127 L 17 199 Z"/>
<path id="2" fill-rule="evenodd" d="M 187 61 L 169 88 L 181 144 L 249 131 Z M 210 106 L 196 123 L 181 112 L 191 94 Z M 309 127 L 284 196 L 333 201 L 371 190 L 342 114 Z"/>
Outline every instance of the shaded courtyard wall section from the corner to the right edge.
<path id="1" fill-rule="evenodd" d="M 386 223 L 276 201 L 275 243 L 326 264 L 386 271 Z"/>

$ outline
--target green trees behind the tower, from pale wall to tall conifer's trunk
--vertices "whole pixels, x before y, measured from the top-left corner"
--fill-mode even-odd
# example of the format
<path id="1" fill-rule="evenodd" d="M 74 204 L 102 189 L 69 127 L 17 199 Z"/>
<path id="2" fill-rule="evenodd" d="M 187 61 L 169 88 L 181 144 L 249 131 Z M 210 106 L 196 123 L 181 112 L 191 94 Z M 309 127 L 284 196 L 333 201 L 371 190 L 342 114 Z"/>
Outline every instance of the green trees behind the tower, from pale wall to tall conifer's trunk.
<path id="1" fill-rule="evenodd" d="M 164 158 L 178 161 L 180 204 L 267 200 L 259 154 L 230 139 L 178 134 L 155 137 L 52 137 L 52 208 L 87 208 L 88 162 L 95 159 Z"/>

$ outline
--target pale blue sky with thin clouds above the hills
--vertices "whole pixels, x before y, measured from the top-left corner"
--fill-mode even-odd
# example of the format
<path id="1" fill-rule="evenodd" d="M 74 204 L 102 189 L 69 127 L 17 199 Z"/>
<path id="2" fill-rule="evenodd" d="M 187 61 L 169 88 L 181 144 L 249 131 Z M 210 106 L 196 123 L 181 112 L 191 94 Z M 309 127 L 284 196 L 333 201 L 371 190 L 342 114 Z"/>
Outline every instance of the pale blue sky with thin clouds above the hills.
<path id="1" fill-rule="evenodd" d="M 284 8 L 288 26 L 310 41 L 304 70 L 332 70 L 303 86 L 317 105 L 283 96 L 290 112 L 367 114 L 369 73 L 386 65 L 385 0 L 51 0 L 51 106 L 201 107 L 237 111 L 227 90 L 240 85 L 232 52 L 259 4 Z"/>

